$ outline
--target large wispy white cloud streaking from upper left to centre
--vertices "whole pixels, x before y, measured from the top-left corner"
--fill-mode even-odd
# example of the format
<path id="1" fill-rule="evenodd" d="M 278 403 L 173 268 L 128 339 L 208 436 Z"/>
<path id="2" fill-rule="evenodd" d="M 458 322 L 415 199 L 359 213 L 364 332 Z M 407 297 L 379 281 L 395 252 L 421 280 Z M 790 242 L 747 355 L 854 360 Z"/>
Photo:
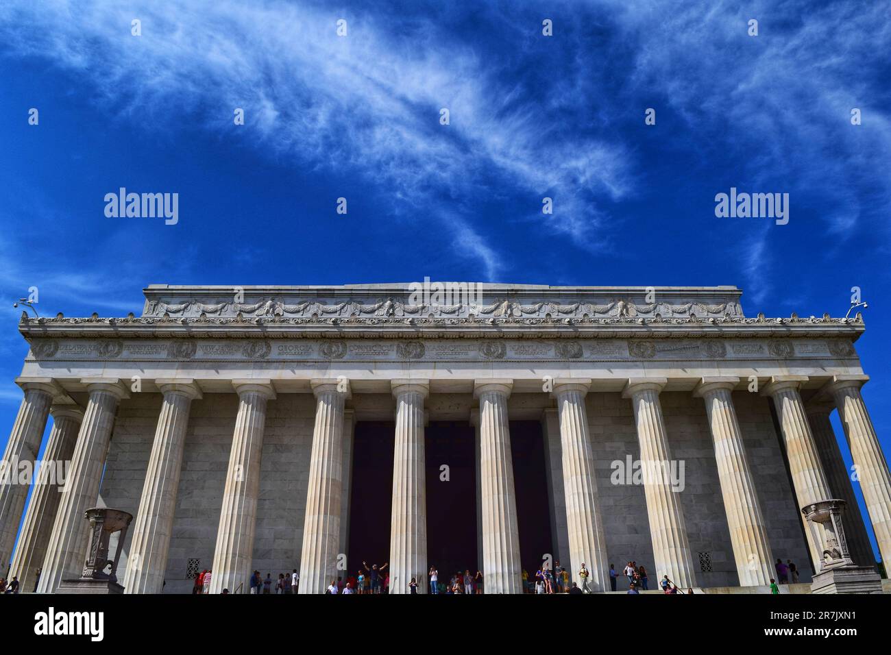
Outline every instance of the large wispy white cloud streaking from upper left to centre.
<path id="1" fill-rule="evenodd" d="M 142 37 L 130 34 L 135 18 Z M 340 18 L 347 37 L 336 33 Z M 455 212 L 472 214 L 486 190 L 527 193 L 531 208 L 557 195 L 564 211 L 542 229 L 598 248 L 598 199 L 628 189 L 621 143 L 543 124 L 472 46 L 432 38 L 433 23 L 417 21 L 415 36 L 429 32 L 418 49 L 394 20 L 283 0 L 55 0 L 39 8 L 13 0 L 0 8 L 0 33 L 13 53 L 78 71 L 110 113 L 151 125 L 146 108 L 173 105 L 222 130 L 240 107 L 245 143 L 296 166 L 355 171 L 389 188 L 405 212 L 423 209 L 446 224 Z M 439 124 L 441 108 L 448 126 Z M 440 214 L 434 200 L 442 197 L 450 207 Z M 470 241 L 494 274 L 499 255 Z"/>

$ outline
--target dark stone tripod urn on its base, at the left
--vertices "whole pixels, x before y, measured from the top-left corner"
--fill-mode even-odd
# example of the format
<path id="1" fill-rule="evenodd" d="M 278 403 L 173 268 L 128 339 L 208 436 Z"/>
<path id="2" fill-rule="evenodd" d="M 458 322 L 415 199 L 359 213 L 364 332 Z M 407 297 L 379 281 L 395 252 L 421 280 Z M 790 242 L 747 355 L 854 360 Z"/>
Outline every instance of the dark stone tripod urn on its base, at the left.
<path id="1" fill-rule="evenodd" d="M 118 584 L 118 560 L 133 514 L 94 507 L 85 512 L 84 518 L 90 525 L 89 557 L 80 577 L 62 580 L 56 594 L 123 594 L 124 587 Z M 118 547 L 109 559 L 111 535 L 115 532 L 119 533 Z"/>

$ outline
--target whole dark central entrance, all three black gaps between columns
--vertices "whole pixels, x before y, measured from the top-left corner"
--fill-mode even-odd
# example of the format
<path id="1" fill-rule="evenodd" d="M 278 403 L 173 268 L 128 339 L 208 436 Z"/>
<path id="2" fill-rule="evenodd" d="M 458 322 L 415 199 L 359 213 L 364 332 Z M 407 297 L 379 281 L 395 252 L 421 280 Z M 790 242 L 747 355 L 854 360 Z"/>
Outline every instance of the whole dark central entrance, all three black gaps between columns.
<path id="1" fill-rule="evenodd" d="M 393 422 L 356 423 L 349 500 L 349 576 L 356 575 L 363 561 L 369 566 L 389 561 L 395 430 Z M 437 567 L 440 581 L 447 582 L 459 570 L 476 573 L 482 566 L 477 553 L 475 434 L 468 422 L 430 422 L 425 435 L 427 561 Z M 544 553 L 552 551 L 540 422 L 511 421 L 511 456 L 520 560 L 532 577 Z M 440 479 L 444 464 L 449 467 L 447 481 Z M 426 576 L 422 584 L 427 584 Z"/>

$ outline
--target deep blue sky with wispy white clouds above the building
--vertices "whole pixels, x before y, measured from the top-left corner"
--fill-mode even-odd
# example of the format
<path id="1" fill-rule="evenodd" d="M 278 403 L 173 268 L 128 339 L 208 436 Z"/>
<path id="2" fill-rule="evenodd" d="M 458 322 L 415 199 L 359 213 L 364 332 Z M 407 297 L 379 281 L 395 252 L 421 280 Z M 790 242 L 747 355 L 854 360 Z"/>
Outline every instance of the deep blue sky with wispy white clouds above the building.
<path id="1" fill-rule="evenodd" d="M 736 284 L 782 316 L 844 315 L 859 286 L 888 452 L 887 6 L 478 5 L 5 0 L 3 432 L 31 286 L 42 315 L 124 315 L 149 283 L 429 276 Z M 178 192 L 178 224 L 105 217 L 121 186 Z M 788 192 L 789 224 L 716 218 L 732 186 Z"/>

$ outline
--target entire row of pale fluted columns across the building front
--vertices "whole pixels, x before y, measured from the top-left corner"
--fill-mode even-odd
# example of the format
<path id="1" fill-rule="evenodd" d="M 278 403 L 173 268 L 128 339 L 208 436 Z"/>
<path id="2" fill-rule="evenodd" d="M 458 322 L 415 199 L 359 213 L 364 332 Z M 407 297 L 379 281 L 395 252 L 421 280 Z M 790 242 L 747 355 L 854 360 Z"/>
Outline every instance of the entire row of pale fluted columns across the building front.
<path id="1" fill-rule="evenodd" d="M 891 474 L 860 394 L 866 376 L 836 376 L 827 386 L 838 407 L 846 438 L 862 485 L 873 528 L 884 561 L 891 561 Z M 789 459 L 797 504 L 840 497 L 852 506 L 848 528 L 858 563 L 871 561 L 871 549 L 857 523 L 853 489 L 828 420 L 830 405 L 805 407 L 799 388 L 806 378 L 778 376 L 763 389 L 772 397 Z M 160 593 L 167 568 L 168 548 L 176 510 L 176 493 L 183 461 L 185 432 L 192 400 L 201 397 L 192 380 L 156 381 L 163 394 L 159 421 L 152 443 L 143 494 L 135 518 L 131 554 L 124 585 L 128 594 Z M 702 397 L 715 446 L 723 503 L 740 585 L 766 585 L 772 577 L 772 554 L 764 528 L 753 476 L 739 421 L 732 403 L 735 377 L 703 378 L 694 390 Z M 118 380 L 85 381 L 86 411 L 70 405 L 53 405 L 60 389 L 51 380 L 23 381 L 25 396 L 4 453 L 5 462 L 34 462 L 53 414 L 53 430 L 46 460 L 70 458 L 61 493 L 52 485 L 37 485 L 29 503 L 12 562 L 12 571 L 28 589 L 29 577 L 42 563 L 38 592 L 53 592 L 63 577 L 77 577 L 86 560 L 88 527 L 84 512 L 99 493 L 102 466 L 108 450 L 117 405 L 128 397 Z M 591 380 L 554 381 L 560 428 L 560 467 L 566 506 L 568 554 L 571 575 L 583 563 L 590 571 L 593 591 L 609 583 L 606 545 L 594 475 L 594 458 L 584 397 Z M 665 378 L 627 381 L 624 397 L 634 407 L 634 421 L 642 462 L 671 462 L 659 393 Z M 275 397 L 271 381 L 236 380 L 239 410 L 225 480 L 217 529 L 211 593 L 224 588 L 239 590 L 252 570 L 252 549 L 257 517 L 260 459 L 263 449 L 266 404 Z M 338 575 L 345 551 L 341 523 L 348 520 L 347 497 L 351 422 L 345 402 L 345 379 L 311 381 L 316 411 L 309 488 L 301 553 L 302 594 L 319 594 Z M 482 544 L 484 586 L 490 594 L 521 591 L 519 529 L 511 465 L 511 436 L 507 401 L 511 380 L 475 384 L 479 408 L 473 421 L 478 440 L 478 517 Z M 423 593 L 427 585 L 427 535 L 424 478 L 424 400 L 429 381 L 392 382 L 396 398 L 396 435 L 390 534 L 391 593 L 407 593 L 414 577 Z M 829 408 L 829 409 L 827 409 Z M 347 446 L 347 447 L 345 447 Z M 556 463 L 555 463 L 556 464 Z M 39 481 L 39 480 L 38 480 Z M 0 488 L 0 556 L 8 561 L 28 487 Z M 645 479 L 654 572 L 677 585 L 696 585 L 680 495 L 666 478 Z M 822 559 L 818 544 L 810 543 L 814 561 Z M 579 581 L 580 582 L 580 581 Z"/>

